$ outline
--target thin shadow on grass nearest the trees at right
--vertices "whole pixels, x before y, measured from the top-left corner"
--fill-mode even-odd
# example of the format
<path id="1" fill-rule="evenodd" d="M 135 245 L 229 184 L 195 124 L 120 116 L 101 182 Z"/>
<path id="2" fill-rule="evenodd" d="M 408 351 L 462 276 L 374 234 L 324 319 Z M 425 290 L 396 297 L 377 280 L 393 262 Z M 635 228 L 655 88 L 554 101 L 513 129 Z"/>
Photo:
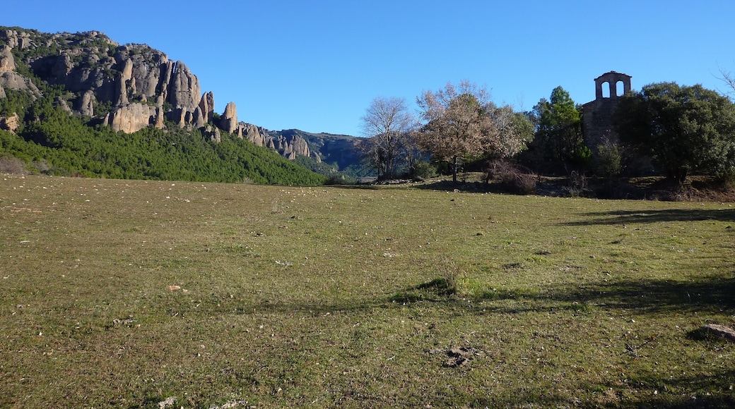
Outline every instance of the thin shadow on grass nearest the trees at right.
<path id="1" fill-rule="evenodd" d="M 645 224 L 661 221 L 735 221 L 735 209 L 725 210 L 616 210 L 612 212 L 586 213 L 586 220 L 565 223 L 567 226 L 587 226 L 590 224 Z"/>

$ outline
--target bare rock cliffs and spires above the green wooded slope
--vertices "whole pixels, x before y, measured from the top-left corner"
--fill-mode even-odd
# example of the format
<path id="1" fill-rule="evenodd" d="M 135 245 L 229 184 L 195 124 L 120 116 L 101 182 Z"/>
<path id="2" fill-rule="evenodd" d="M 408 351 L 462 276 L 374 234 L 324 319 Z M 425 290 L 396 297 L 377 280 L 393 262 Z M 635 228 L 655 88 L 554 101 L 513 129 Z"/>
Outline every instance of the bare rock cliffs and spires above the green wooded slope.
<path id="1" fill-rule="evenodd" d="M 57 98 L 57 106 L 73 114 L 97 115 L 115 130 L 163 129 L 164 119 L 168 119 L 182 128 L 200 129 L 205 138 L 215 142 L 221 141 L 224 130 L 290 159 L 305 155 L 321 160 L 298 133 L 270 132 L 238 122 L 232 102 L 218 122 L 213 122 L 212 92 L 202 94 L 198 78 L 183 62 L 171 61 L 148 45 L 119 45 L 100 32 L 47 34 L 7 28 L 0 28 L 0 43 L 4 43 L 0 45 L 0 98 L 7 97 L 8 89 L 29 92 L 35 99 L 42 97 L 32 81 L 17 72 L 16 65 L 22 64 L 42 81 L 65 87 L 68 94 Z M 29 56 L 15 60 L 14 51 L 41 47 L 54 52 L 23 53 Z M 17 126 L 12 125 L 14 121 L 6 118 L 3 126 Z"/>

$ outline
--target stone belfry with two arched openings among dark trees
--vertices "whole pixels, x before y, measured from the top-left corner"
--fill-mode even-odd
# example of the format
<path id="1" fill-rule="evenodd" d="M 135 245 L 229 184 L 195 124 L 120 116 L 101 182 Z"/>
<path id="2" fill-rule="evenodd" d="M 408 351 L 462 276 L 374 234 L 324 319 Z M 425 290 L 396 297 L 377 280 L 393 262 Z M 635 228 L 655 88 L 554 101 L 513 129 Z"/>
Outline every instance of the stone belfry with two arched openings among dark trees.
<path id="1" fill-rule="evenodd" d="M 620 97 L 631 91 L 631 75 L 610 71 L 595 78 L 595 100 L 582 106 L 582 131 L 587 147 L 596 147 L 605 141 L 618 142 L 612 117 Z"/>

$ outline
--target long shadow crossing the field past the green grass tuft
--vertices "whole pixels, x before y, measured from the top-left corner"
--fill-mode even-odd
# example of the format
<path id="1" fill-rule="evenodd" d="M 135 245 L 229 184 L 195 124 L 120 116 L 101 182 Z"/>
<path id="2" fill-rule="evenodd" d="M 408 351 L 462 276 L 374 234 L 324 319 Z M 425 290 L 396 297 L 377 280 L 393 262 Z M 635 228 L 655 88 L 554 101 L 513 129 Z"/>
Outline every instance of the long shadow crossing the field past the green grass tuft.
<path id="1" fill-rule="evenodd" d="M 414 303 L 440 303 L 464 313 L 573 311 L 592 309 L 625 310 L 628 314 L 667 314 L 681 312 L 720 312 L 735 310 L 735 271 L 720 276 L 705 276 L 686 281 L 640 279 L 587 284 L 569 284 L 542 289 L 492 289 L 466 295 L 462 286 L 436 278 L 377 298 L 315 298 L 284 300 L 274 297 L 256 301 L 212 294 L 201 299 L 201 306 L 188 297 L 169 299 L 171 314 L 304 314 L 318 316 L 334 312 L 370 312 Z M 516 301 L 508 303 L 506 301 Z M 469 302 L 469 303 L 468 303 Z M 467 307 L 470 308 L 467 308 Z"/>

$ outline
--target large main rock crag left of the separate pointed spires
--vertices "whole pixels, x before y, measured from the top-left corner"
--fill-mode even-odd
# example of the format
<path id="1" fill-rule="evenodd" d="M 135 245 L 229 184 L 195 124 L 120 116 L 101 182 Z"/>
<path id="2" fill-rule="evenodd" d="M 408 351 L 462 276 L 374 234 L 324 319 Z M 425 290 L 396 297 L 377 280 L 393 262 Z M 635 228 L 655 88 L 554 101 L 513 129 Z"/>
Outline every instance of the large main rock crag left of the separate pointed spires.
<path id="1" fill-rule="evenodd" d="M 169 61 L 168 56 L 161 51 L 154 50 L 148 45 L 118 45 L 107 36 L 98 32 L 62 33 L 43 35 L 29 32 L 19 33 L 12 30 L 0 30 L 0 40 L 8 45 L 19 47 L 22 43 L 14 38 L 32 38 L 33 34 L 43 37 L 46 46 L 55 45 L 60 48 L 57 54 L 46 56 L 27 57 L 24 63 L 33 73 L 49 84 L 60 84 L 72 93 L 79 95 L 73 106 L 84 107 L 78 111 L 85 114 L 93 112 L 89 109 L 97 103 L 111 103 L 112 108 L 122 108 L 135 102 L 146 102 L 162 98 L 162 104 L 171 104 L 171 109 L 180 109 L 176 115 L 193 120 L 198 103 L 201 99 L 201 89 L 198 78 L 190 72 L 183 62 Z M 28 43 L 28 42 L 26 42 Z M 35 43 L 40 43 L 36 41 Z M 29 43 L 26 47 L 34 47 Z M 25 43 L 24 43 L 25 44 Z M 3 51 L 3 67 L 12 70 L 12 54 Z M 20 86 L 18 78 L 6 78 L 9 83 L 6 88 L 15 89 Z M 92 95 L 87 95 L 87 92 Z M 93 96 L 93 98 L 90 98 Z M 210 100 L 214 98 L 211 97 Z M 69 104 L 72 105 L 72 104 Z M 210 107 L 211 110 L 214 107 Z M 127 114 L 142 112 L 132 108 Z M 188 113 L 188 115 L 187 115 Z M 113 113 L 113 117 L 118 113 Z M 146 118 L 140 118 L 136 123 L 145 123 Z M 190 122 L 179 125 L 191 125 Z M 126 127 L 123 127 L 126 128 Z"/>

